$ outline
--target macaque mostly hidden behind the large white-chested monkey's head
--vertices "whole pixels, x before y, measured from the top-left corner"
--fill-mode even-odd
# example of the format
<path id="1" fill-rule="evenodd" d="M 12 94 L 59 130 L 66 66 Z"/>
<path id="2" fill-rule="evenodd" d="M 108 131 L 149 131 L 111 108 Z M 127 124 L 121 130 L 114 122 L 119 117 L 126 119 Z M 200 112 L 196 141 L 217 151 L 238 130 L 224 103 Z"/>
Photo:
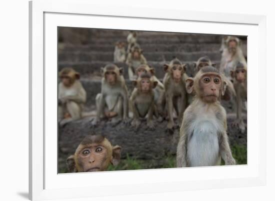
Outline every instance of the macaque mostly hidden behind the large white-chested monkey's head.
<path id="1" fill-rule="evenodd" d="M 216 64 L 213 63 L 208 56 L 200 57 L 195 64 L 195 74 L 200 70 L 200 68 L 208 65 L 216 67 Z M 231 97 L 235 97 L 236 92 L 233 83 L 226 76 L 224 76 L 224 74 L 220 74 L 220 76 L 222 77 L 222 80 L 226 82 L 226 90 L 224 95 L 221 96 L 221 99 L 229 100 Z"/>

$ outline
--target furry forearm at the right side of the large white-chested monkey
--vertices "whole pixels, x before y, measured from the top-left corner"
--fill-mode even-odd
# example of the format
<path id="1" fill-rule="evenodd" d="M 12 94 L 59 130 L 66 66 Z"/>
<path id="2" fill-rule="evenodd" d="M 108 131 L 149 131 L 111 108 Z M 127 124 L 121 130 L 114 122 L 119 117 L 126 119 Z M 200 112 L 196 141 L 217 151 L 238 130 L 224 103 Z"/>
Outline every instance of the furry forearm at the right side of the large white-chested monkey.
<path id="1" fill-rule="evenodd" d="M 219 136 L 219 152 L 221 158 L 225 162 L 225 165 L 236 164 L 236 161 L 231 153 L 226 131 L 224 130 L 223 132 L 221 132 Z"/>

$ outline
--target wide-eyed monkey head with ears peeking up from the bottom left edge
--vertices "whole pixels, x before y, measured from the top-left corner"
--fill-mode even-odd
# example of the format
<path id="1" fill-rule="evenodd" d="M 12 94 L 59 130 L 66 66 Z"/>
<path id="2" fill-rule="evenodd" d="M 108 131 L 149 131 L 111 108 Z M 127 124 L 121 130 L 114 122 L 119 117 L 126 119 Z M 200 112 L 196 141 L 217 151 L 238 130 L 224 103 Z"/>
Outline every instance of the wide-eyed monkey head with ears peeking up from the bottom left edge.
<path id="1" fill-rule="evenodd" d="M 102 135 L 88 135 L 67 158 L 69 172 L 104 171 L 109 164 L 117 165 L 121 147 L 112 146 Z"/>

